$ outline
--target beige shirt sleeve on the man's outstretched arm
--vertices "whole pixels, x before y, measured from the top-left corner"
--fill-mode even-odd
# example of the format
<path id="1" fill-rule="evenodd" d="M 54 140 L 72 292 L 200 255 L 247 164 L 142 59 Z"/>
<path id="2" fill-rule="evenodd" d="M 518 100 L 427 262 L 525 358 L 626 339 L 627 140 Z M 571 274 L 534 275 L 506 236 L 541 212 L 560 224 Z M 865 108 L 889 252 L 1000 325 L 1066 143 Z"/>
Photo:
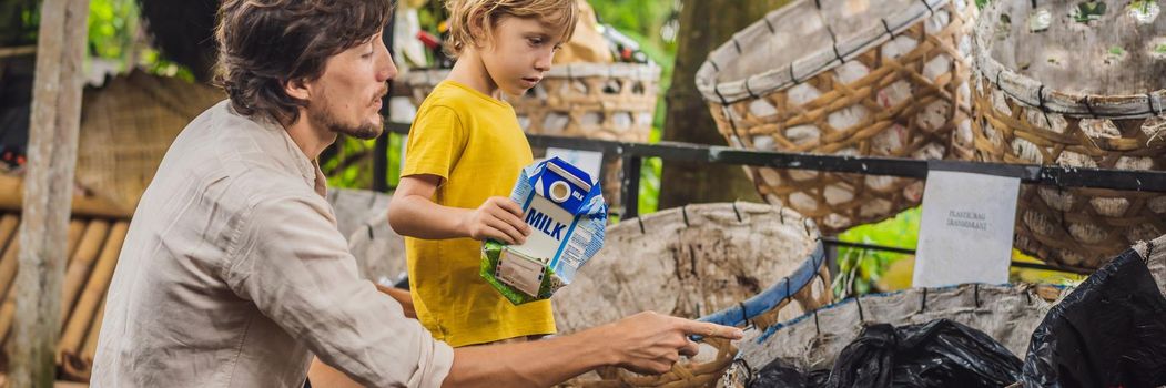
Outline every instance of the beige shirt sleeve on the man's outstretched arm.
<path id="1" fill-rule="evenodd" d="M 231 289 L 304 341 L 319 359 L 370 387 L 438 387 L 454 351 L 359 277 L 323 199 L 282 198 L 241 223 Z"/>

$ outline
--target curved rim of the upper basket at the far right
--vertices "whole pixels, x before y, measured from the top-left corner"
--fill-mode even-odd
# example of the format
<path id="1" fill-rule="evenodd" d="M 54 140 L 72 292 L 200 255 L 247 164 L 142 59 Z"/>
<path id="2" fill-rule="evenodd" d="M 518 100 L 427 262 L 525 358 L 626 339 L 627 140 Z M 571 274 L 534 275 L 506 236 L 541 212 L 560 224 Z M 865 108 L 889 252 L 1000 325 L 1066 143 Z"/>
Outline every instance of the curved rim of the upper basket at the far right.
<path id="1" fill-rule="evenodd" d="M 1026 107 L 1073 118 L 1144 119 L 1166 114 L 1166 89 L 1144 94 L 1097 94 L 1066 92 L 1018 73 L 991 56 L 993 20 L 999 19 L 1004 1 L 991 1 L 976 20 L 971 38 L 972 71 L 978 82 L 989 80 L 996 90 Z"/>

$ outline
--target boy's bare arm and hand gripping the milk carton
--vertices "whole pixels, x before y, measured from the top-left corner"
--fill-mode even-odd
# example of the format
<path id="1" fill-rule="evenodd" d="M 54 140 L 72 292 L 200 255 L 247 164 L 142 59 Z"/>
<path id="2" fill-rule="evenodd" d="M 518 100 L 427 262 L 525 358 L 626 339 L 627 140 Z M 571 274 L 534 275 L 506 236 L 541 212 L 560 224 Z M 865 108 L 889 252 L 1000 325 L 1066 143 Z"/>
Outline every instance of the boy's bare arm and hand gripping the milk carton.
<path id="1" fill-rule="evenodd" d="M 494 239 L 526 242 L 531 227 L 522 209 L 506 197 L 491 197 L 478 209 L 442 206 L 433 202 L 442 178 L 436 175 L 401 177 L 388 203 L 388 225 L 400 235 L 419 239 Z"/>

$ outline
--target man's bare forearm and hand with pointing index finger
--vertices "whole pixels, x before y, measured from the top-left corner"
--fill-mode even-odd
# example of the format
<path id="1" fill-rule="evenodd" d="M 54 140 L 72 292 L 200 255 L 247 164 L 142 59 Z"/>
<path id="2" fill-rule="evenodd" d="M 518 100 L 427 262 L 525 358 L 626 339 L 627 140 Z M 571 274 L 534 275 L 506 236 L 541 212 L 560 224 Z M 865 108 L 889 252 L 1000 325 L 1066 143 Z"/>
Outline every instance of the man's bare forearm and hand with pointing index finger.
<path id="1" fill-rule="evenodd" d="M 443 387 L 550 387 L 600 366 L 660 374 L 695 355 L 690 334 L 740 339 L 736 327 L 641 312 L 613 324 L 539 341 L 454 351 Z"/>

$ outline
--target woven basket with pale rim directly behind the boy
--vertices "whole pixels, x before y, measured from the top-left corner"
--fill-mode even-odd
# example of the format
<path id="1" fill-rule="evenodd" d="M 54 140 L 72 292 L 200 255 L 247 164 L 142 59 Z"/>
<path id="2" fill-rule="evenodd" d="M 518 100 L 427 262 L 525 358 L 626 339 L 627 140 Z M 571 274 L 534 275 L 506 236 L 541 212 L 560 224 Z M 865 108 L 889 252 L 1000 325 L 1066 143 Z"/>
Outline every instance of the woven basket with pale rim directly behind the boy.
<path id="1" fill-rule="evenodd" d="M 449 70 L 413 70 L 399 83 L 420 106 Z M 647 142 L 655 112 L 660 68 L 632 63 L 555 65 L 525 96 L 510 98 L 529 134 Z M 604 198 L 618 207 L 621 172 L 614 155 L 605 161 Z"/>

